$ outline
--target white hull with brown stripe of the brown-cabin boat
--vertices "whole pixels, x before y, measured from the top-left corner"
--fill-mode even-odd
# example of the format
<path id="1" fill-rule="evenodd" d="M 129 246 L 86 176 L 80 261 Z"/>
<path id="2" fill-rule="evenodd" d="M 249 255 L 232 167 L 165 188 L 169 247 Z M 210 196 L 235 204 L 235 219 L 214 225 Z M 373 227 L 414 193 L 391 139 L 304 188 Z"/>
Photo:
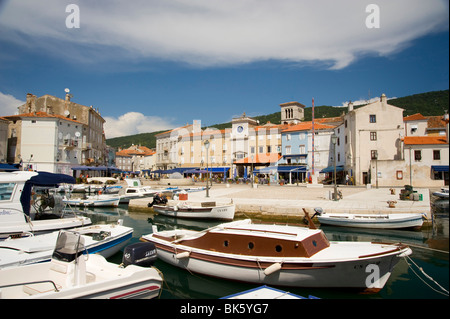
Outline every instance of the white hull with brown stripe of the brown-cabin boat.
<path id="1" fill-rule="evenodd" d="M 399 257 L 411 253 L 407 247 L 390 246 L 373 255 L 323 261 L 230 255 L 175 247 L 152 237 L 143 237 L 143 240 L 156 244 L 158 258 L 164 262 L 202 275 L 274 286 L 356 288 L 370 292 L 381 290 Z"/>

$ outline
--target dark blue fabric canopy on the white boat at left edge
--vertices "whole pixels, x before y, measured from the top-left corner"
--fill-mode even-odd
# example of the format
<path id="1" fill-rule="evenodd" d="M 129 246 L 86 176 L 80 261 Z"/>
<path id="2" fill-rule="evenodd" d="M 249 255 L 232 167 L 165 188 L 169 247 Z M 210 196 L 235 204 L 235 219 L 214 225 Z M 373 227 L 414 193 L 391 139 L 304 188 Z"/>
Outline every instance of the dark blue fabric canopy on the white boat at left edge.
<path id="1" fill-rule="evenodd" d="M 33 186 L 42 187 L 58 187 L 59 184 L 75 184 L 75 178 L 65 174 L 54 174 L 48 172 L 37 172 L 38 175 L 31 177 L 25 182 L 22 194 L 20 195 L 20 203 L 22 204 L 23 212 L 30 215 L 30 200 L 31 200 L 31 188 Z"/>

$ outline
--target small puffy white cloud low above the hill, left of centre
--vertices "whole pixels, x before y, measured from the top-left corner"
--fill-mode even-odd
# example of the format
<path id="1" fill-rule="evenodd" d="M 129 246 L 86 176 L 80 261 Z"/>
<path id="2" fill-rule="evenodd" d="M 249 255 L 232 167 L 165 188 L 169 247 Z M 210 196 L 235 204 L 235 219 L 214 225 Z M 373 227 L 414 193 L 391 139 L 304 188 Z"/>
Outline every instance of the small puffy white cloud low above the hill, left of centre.
<path id="1" fill-rule="evenodd" d="M 171 120 L 139 112 L 128 112 L 118 118 L 106 116 L 104 119 L 106 138 L 169 130 L 178 126 Z"/>

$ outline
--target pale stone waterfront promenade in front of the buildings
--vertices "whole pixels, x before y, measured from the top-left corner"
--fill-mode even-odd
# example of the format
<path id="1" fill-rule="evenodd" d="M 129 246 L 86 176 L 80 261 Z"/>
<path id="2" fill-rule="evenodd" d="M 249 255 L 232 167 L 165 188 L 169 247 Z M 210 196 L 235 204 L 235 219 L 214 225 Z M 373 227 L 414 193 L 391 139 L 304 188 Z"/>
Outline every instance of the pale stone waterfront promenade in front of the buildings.
<path id="1" fill-rule="evenodd" d="M 156 185 L 152 185 L 157 188 Z M 196 186 L 204 186 L 196 185 Z M 311 185 L 309 185 L 311 186 Z M 321 207 L 328 213 L 426 213 L 430 215 L 430 195 L 427 188 L 415 188 L 422 194 L 422 201 L 400 200 L 402 187 L 395 189 L 391 195 L 389 188 L 370 188 L 356 186 L 340 186 L 343 199 L 330 200 L 332 186 L 307 187 L 306 185 L 258 185 L 252 188 L 249 184 L 214 184 L 209 190 L 192 192 L 188 200 L 194 202 L 215 201 L 218 204 L 230 203 L 236 205 L 237 215 L 248 217 L 271 217 L 279 219 L 303 218 L 303 208 L 313 213 L 315 207 Z M 395 208 L 389 208 L 388 201 L 396 201 Z M 130 209 L 147 208 L 148 199 L 137 199 L 130 202 Z"/>

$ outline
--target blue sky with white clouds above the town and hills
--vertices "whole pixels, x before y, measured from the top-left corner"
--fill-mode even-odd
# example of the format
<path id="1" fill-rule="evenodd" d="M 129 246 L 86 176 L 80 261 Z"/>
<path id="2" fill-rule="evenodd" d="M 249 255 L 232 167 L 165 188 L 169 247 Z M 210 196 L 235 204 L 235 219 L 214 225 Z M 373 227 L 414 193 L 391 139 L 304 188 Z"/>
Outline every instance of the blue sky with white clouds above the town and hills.
<path id="1" fill-rule="evenodd" d="M 448 0 L 0 0 L 0 116 L 93 105 L 107 138 L 449 89 Z"/>

